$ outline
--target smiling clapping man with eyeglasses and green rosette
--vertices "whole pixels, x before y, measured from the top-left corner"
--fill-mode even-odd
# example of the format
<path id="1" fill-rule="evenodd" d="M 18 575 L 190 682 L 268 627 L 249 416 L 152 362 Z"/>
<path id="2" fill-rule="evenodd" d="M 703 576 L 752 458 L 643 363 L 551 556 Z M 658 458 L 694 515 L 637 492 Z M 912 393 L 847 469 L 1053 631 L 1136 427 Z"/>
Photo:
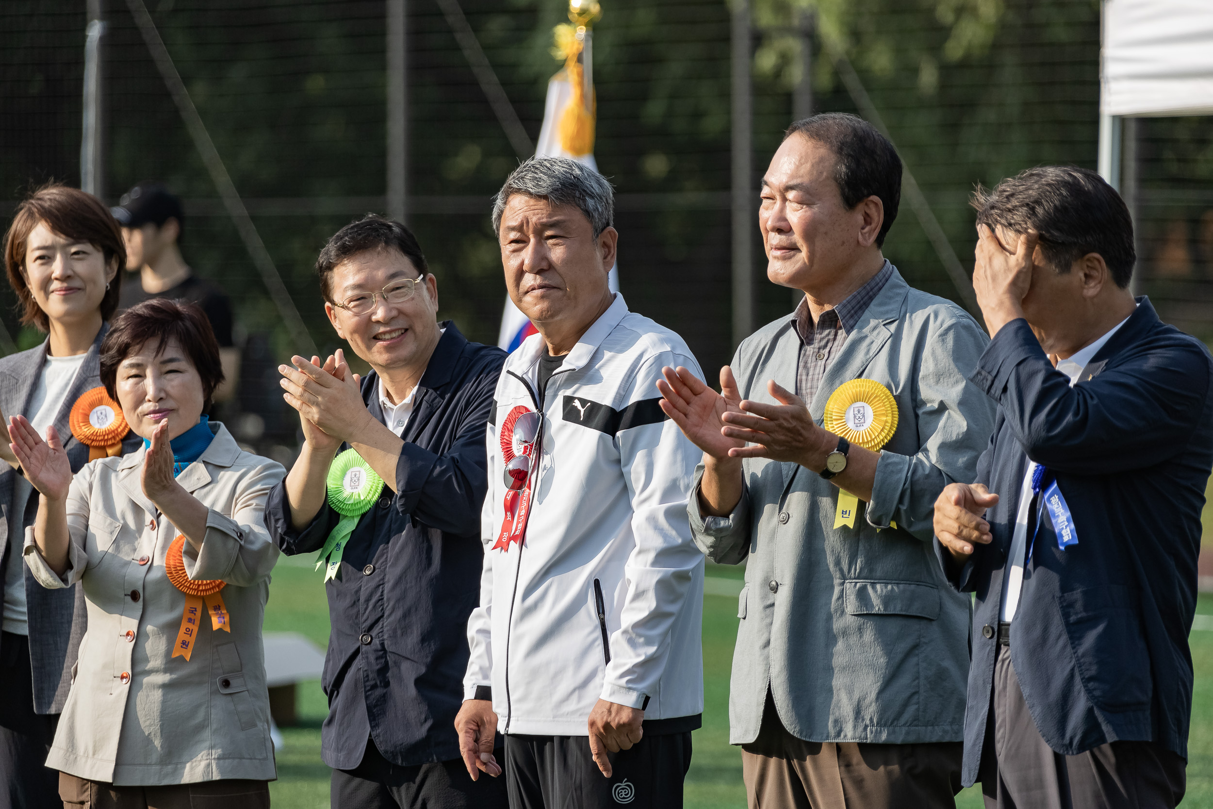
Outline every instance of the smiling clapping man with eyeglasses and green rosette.
<path id="1" fill-rule="evenodd" d="M 483 559 L 485 425 L 505 353 L 438 321 L 438 280 L 398 222 L 346 226 L 317 273 L 337 336 L 372 371 L 359 378 L 340 349 L 279 368 L 304 443 L 266 524 L 286 554 L 331 551 L 325 570 L 336 575 L 315 575 L 328 579 L 332 625 L 321 730 L 332 807 L 505 807 L 501 780 L 473 782 L 463 770 L 452 727 Z M 326 479 L 347 446 L 385 485 L 348 540 L 326 545 L 342 519 Z"/>

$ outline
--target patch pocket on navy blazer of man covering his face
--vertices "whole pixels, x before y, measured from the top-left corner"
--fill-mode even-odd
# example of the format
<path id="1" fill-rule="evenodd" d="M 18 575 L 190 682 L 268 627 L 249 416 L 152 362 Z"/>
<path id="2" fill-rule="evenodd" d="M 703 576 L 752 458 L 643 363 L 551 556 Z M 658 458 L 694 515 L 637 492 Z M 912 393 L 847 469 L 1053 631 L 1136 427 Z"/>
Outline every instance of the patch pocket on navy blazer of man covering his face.
<path id="1" fill-rule="evenodd" d="M 1126 586 L 1084 587 L 1058 596 L 1074 662 L 1087 696 L 1105 711 L 1150 706 L 1150 650 Z"/>

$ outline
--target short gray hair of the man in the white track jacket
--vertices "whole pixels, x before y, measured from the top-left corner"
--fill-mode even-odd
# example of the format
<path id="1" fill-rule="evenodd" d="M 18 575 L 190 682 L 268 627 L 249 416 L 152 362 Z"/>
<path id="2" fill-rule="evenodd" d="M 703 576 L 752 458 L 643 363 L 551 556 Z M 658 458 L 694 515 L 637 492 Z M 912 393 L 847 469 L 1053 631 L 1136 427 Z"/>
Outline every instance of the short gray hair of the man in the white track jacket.
<path id="1" fill-rule="evenodd" d="M 549 205 L 575 205 L 590 220 L 597 238 L 615 223 L 615 192 L 600 173 L 568 158 L 526 158 L 506 178 L 492 203 L 492 229 L 501 232 L 501 215 L 514 194 L 546 199 Z"/>

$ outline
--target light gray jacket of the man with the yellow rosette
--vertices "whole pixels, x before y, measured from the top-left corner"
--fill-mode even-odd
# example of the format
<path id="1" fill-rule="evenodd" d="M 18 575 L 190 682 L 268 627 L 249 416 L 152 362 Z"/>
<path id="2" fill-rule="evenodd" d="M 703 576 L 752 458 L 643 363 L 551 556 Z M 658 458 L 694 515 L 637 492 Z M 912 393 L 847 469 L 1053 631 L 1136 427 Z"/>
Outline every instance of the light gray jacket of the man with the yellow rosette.
<path id="1" fill-rule="evenodd" d="M 963 739 L 969 599 L 939 568 L 932 514 L 946 484 L 973 479 L 990 440 L 993 408 L 966 380 L 987 342 L 957 306 L 894 273 L 809 404 L 820 425 L 830 394 L 859 377 L 881 382 L 898 403 L 896 433 L 855 528 L 833 528 L 837 486 L 796 463 L 747 458 L 741 502 L 706 525 L 699 498 L 689 498 L 704 552 L 746 563 L 733 744 L 758 736 L 768 688 L 785 728 L 808 741 Z M 741 395 L 775 404 L 771 378 L 795 389 L 799 344 L 791 318 L 742 342 L 733 360 Z"/>

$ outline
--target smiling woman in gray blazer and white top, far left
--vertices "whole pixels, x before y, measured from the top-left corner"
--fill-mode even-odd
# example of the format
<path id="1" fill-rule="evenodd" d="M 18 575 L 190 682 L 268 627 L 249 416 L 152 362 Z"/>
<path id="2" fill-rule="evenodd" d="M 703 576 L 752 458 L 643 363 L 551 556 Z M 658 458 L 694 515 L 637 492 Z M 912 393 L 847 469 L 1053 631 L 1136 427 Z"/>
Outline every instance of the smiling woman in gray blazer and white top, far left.
<path id="1" fill-rule="evenodd" d="M 109 209 L 75 188 L 40 188 L 17 205 L 4 256 L 22 325 L 47 337 L 0 358 L 0 422 L 22 415 L 41 434 L 53 426 L 72 472 L 98 454 L 136 449 L 137 435 L 70 425 L 73 405 L 101 384 L 101 341 L 118 308 L 126 262 Z M 34 582 L 21 546 L 38 498 L 7 441 L 0 441 L 0 457 L 7 461 L 0 463 L 0 809 L 45 807 L 58 799 L 58 774 L 42 764 L 72 686 L 86 623 L 84 594 Z"/>

